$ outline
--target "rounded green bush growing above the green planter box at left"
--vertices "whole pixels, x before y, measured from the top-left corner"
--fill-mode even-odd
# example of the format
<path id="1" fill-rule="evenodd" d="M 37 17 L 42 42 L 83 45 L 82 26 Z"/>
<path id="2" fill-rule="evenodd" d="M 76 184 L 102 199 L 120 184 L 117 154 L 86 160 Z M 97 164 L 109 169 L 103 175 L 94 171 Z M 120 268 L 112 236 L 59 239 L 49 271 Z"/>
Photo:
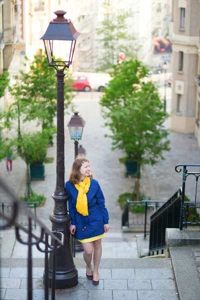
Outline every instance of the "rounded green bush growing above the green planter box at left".
<path id="1" fill-rule="evenodd" d="M 21 147 L 19 155 L 29 164 L 41 164 L 44 162 L 49 142 L 48 130 L 42 132 L 26 133 L 21 135 L 17 144 Z"/>

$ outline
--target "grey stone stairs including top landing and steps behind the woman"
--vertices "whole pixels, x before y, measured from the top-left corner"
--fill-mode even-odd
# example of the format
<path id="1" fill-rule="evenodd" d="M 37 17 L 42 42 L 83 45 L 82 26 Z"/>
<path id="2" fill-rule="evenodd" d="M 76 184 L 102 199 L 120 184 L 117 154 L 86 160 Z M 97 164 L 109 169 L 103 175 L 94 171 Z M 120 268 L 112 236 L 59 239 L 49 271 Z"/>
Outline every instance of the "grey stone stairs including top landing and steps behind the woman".
<path id="1" fill-rule="evenodd" d="M 38 233 L 37 228 L 33 231 Z M 1 236 L 0 299 L 27 300 L 27 246 L 15 240 L 12 228 Z M 25 237 L 22 232 L 21 236 Z M 76 252 L 74 263 L 78 269 L 78 284 L 56 290 L 55 299 L 178 300 L 170 259 L 138 258 L 137 239 L 138 236 L 130 232 L 108 232 L 103 237 L 97 286 L 86 279 L 82 252 Z M 40 300 L 44 298 L 43 253 L 33 246 L 32 255 L 33 299 Z"/>

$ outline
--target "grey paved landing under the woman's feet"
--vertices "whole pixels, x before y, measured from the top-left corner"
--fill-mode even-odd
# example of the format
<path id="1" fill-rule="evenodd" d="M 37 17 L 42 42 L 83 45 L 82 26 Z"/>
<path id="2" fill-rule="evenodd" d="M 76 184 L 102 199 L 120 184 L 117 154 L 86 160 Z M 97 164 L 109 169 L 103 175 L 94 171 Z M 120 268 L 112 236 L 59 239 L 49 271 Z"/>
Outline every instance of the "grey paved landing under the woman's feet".
<path id="1" fill-rule="evenodd" d="M 142 261 L 143 260 L 143 261 Z M 156 261 L 155 261 L 156 260 Z M 76 259 L 77 261 L 77 259 Z M 85 268 L 78 267 L 78 284 L 70 289 L 56 291 L 56 299 L 65 300 L 177 300 L 170 259 L 107 260 L 99 268 L 99 285 L 86 279 Z M 121 263 L 121 268 L 120 267 Z M 77 264 L 78 261 L 77 261 Z M 107 264 L 107 267 L 105 267 Z M 111 266 L 112 264 L 112 266 Z M 154 267 L 153 267 L 154 264 Z M 128 266 L 127 266 L 128 265 Z M 132 265 L 132 268 L 131 268 Z M 140 265 L 140 267 L 139 267 Z M 43 268 L 33 268 L 33 299 L 43 298 Z M 26 300 L 27 268 L 2 267 L 1 299 Z M 161 278 L 161 279 L 160 279 Z"/>

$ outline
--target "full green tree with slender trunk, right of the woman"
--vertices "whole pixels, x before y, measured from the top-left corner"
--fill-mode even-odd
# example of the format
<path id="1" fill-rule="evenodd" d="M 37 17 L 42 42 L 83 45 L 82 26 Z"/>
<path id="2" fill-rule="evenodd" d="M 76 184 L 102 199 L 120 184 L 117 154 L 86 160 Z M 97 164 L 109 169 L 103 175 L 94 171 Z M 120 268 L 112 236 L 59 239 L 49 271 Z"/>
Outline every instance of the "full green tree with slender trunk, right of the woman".
<path id="1" fill-rule="evenodd" d="M 109 87 L 100 99 L 105 125 L 112 132 L 112 149 L 123 149 L 137 161 L 136 199 L 139 200 L 139 165 L 153 165 L 169 150 L 168 130 L 157 88 L 147 80 L 146 67 L 138 60 L 124 61 L 114 67 Z"/>

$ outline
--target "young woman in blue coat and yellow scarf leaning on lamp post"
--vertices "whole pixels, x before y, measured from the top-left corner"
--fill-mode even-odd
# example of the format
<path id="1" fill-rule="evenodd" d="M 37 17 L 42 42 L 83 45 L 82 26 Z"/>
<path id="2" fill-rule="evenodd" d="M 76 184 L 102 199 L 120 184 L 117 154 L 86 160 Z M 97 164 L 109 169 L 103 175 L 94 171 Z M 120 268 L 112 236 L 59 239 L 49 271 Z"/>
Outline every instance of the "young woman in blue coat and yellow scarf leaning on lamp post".
<path id="1" fill-rule="evenodd" d="M 105 199 L 98 181 L 90 174 L 88 159 L 77 157 L 74 160 L 65 188 L 69 196 L 70 232 L 76 232 L 76 238 L 82 243 L 87 279 L 97 285 L 102 254 L 101 238 L 109 230 L 109 224 Z"/>

